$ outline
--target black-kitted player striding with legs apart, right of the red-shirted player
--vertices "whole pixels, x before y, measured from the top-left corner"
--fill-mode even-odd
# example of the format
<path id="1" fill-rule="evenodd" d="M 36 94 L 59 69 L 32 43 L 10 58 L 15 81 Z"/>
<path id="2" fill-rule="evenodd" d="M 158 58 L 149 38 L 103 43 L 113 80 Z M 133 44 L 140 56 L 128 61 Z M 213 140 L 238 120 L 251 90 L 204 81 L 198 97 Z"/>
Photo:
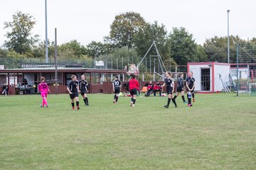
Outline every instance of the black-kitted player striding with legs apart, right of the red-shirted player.
<path id="1" fill-rule="evenodd" d="M 169 108 L 169 104 L 172 101 L 177 107 L 175 98 L 172 98 L 172 94 L 174 93 L 174 79 L 171 78 L 171 72 L 166 72 L 166 79 L 164 79 L 163 87 L 166 86 L 166 92 L 168 94 L 168 102 L 165 108 Z"/>

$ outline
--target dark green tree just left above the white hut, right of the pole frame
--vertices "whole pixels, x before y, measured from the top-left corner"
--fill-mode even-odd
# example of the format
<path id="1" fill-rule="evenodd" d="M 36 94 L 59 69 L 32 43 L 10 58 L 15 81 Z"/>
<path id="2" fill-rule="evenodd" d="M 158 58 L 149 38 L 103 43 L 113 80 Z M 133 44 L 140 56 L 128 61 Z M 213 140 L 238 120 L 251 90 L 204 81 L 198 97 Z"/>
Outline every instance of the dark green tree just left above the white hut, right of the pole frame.
<path id="1" fill-rule="evenodd" d="M 186 65 L 187 62 L 196 62 L 196 42 L 193 35 L 188 33 L 185 28 L 173 28 L 170 34 L 171 57 L 177 64 Z"/>

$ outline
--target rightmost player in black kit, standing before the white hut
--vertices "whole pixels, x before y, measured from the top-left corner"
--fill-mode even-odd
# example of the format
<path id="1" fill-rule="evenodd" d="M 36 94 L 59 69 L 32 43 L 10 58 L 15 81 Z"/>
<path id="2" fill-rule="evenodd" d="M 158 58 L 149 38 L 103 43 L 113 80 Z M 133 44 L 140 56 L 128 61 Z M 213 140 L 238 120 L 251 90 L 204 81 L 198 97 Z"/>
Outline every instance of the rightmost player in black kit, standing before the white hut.
<path id="1" fill-rule="evenodd" d="M 196 80 L 193 78 L 193 73 L 188 73 L 188 78 L 186 78 L 186 87 L 188 88 L 187 96 L 188 96 L 188 106 L 191 107 L 191 96 L 193 97 L 193 102 L 195 102 L 195 94 L 193 93 L 195 89 Z"/>

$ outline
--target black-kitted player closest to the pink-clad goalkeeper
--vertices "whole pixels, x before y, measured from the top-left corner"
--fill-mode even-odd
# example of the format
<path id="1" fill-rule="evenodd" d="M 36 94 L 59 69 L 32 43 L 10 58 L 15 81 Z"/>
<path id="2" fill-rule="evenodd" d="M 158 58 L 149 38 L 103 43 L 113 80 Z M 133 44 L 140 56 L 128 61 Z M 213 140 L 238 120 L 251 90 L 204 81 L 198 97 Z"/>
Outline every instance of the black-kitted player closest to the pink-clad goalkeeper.
<path id="1" fill-rule="evenodd" d="M 71 76 L 70 82 L 68 83 L 68 93 L 70 94 L 70 99 L 71 99 L 71 105 L 72 108 L 75 109 L 75 103 L 77 106 L 77 109 L 79 110 L 79 101 L 78 101 L 78 91 L 79 91 L 79 82 L 77 77 L 75 76 L 75 74 L 73 74 Z M 74 103 L 74 99 L 75 99 L 75 103 Z"/>

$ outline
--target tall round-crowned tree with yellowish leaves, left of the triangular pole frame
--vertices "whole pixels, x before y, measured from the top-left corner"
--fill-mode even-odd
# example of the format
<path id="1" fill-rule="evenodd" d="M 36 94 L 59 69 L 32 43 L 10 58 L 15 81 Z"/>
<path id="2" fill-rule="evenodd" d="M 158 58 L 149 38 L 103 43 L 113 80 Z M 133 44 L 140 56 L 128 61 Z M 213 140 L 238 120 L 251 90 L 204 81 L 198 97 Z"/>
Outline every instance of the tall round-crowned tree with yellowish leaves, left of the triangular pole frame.
<path id="1" fill-rule="evenodd" d="M 127 12 L 115 16 L 110 26 L 110 35 L 105 41 L 115 47 L 134 47 L 134 35 L 139 28 L 146 26 L 144 18 L 139 13 Z"/>

